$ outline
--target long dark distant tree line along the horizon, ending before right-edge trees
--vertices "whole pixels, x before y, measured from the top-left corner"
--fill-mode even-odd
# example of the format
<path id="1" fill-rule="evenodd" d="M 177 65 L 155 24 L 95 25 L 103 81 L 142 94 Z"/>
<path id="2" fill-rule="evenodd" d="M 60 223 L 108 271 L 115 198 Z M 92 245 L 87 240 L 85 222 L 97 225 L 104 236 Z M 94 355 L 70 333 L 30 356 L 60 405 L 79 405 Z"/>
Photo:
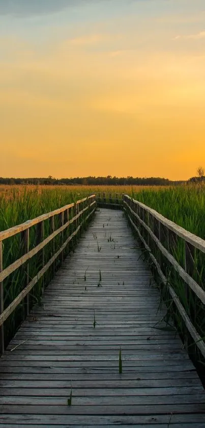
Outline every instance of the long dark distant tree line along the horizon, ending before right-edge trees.
<path id="1" fill-rule="evenodd" d="M 148 177 L 148 178 L 139 178 L 139 177 L 111 177 L 111 175 L 107 175 L 107 177 L 75 177 L 68 179 L 55 179 L 51 175 L 47 178 L 0 178 L 0 184 L 44 184 L 44 185 L 153 185 L 153 186 L 167 186 L 171 184 L 178 184 L 180 182 L 173 182 L 168 179 L 160 178 L 160 177 Z"/>

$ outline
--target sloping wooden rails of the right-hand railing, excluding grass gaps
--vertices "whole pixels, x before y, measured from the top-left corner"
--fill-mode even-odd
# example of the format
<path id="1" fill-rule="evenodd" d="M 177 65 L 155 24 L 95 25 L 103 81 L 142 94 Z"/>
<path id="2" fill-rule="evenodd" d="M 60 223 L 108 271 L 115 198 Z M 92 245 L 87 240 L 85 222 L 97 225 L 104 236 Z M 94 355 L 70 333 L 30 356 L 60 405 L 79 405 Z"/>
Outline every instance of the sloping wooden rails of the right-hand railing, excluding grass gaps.
<path id="1" fill-rule="evenodd" d="M 169 294 L 177 307 L 186 328 L 189 331 L 194 343 L 205 358 L 205 343 L 201 335 L 197 332 L 193 322 L 186 312 L 180 297 L 173 287 L 169 284 L 169 279 L 163 273 L 160 254 L 167 260 L 172 268 L 178 273 L 180 278 L 185 282 L 187 287 L 193 291 L 202 305 L 205 304 L 205 291 L 193 279 L 193 272 L 196 269 L 194 261 L 195 249 L 205 253 L 205 241 L 192 233 L 186 231 L 181 226 L 163 217 L 157 211 L 146 205 L 134 200 L 128 195 L 123 196 L 124 211 L 137 232 L 139 239 L 142 241 L 145 249 L 148 250 L 152 262 L 155 264 L 160 275 L 162 283 L 168 287 Z M 177 239 L 184 242 L 183 265 L 174 257 L 174 251 L 177 247 Z M 151 243 L 154 242 L 159 250 L 159 257 L 155 257 L 151 249 Z M 167 248 L 166 248 L 167 247 Z M 171 254 L 172 253 L 172 254 Z M 188 296 L 188 293 L 187 293 Z"/>

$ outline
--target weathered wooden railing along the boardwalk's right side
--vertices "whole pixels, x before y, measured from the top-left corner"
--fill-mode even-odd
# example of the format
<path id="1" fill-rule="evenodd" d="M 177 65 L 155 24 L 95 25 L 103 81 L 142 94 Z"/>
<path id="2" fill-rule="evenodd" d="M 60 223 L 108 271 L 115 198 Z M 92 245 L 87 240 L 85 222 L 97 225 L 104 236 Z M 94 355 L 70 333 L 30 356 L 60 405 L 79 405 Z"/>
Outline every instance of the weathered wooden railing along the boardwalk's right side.
<path id="1" fill-rule="evenodd" d="M 205 241 L 128 195 L 123 196 L 123 204 L 130 223 L 157 268 L 161 282 L 167 288 L 191 338 L 205 358 L 205 343 L 202 335 L 197 332 L 199 326 L 204 325 L 205 291 L 196 263 L 198 251 L 198 257 L 201 256 L 203 265 Z M 181 258 L 178 260 L 176 260 L 177 250 L 178 255 L 179 250 L 181 251 Z M 172 287 L 174 280 L 170 281 L 171 271 L 175 272 L 182 282 L 185 299 L 182 298 L 180 290 L 174 290 Z M 202 287 L 194 278 L 198 278 Z M 194 296 L 195 304 L 192 310 L 189 309 L 191 296 L 192 299 Z M 196 319 L 196 307 L 201 311 L 200 319 Z M 200 330 L 204 332 L 203 327 Z"/>

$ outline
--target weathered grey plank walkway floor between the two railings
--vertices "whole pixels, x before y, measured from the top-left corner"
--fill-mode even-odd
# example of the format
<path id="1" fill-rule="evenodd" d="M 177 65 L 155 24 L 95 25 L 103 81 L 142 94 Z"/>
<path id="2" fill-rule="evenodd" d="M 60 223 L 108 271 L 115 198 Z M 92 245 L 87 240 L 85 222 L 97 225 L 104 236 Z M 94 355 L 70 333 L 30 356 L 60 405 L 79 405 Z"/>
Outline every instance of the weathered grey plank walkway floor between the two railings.
<path id="1" fill-rule="evenodd" d="M 121 211 L 96 213 L 0 360 L 2 428 L 205 427 L 204 390 L 180 338 L 155 328 L 165 311 L 140 255 Z"/>

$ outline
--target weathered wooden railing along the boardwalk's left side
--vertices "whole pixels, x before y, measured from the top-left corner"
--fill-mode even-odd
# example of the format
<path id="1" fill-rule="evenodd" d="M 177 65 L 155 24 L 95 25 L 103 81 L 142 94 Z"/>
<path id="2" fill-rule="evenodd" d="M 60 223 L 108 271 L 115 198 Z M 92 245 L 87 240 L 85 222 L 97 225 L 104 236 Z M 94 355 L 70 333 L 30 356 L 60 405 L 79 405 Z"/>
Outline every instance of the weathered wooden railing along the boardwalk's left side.
<path id="1" fill-rule="evenodd" d="M 0 232 L 0 333 L 1 333 L 1 354 L 4 353 L 5 334 L 4 323 L 16 310 L 19 304 L 26 306 L 28 314 L 31 308 L 30 294 L 34 286 L 42 279 L 42 290 L 44 288 L 43 277 L 48 269 L 55 262 L 63 262 L 68 244 L 78 237 L 80 230 L 86 225 L 89 218 L 96 210 L 96 196 L 91 195 L 75 203 L 66 205 L 60 209 L 43 214 L 33 220 L 14 226 L 11 229 Z M 45 230 L 46 226 L 46 230 Z M 32 236 L 32 239 L 31 239 Z M 17 239 L 21 256 L 7 266 L 6 241 Z M 72 241 L 73 242 L 73 241 Z M 12 246 L 10 241 L 9 247 Z M 32 248 L 31 248 L 32 246 Z M 48 248 L 49 246 L 49 248 Z M 45 251 L 46 250 L 46 251 Z M 35 258 L 32 272 L 30 263 Z M 61 258 L 61 261 L 59 260 Z M 58 263 L 59 264 L 59 263 Z M 6 265 L 6 266 L 5 266 Z M 21 281 L 23 276 L 23 286 L 15 298 L 6 305 L 5 300 L 9 293 L 9 288 L 14 287 L 12 274 L 20 269 L 20 275 L 16 282 Z M 11 275 L 11 276 L 10 276 Z M 20 279 L 19 279 L 20 278 Z M 6 293 L 4 293 L 4 282 L 7 282 Z"/>

